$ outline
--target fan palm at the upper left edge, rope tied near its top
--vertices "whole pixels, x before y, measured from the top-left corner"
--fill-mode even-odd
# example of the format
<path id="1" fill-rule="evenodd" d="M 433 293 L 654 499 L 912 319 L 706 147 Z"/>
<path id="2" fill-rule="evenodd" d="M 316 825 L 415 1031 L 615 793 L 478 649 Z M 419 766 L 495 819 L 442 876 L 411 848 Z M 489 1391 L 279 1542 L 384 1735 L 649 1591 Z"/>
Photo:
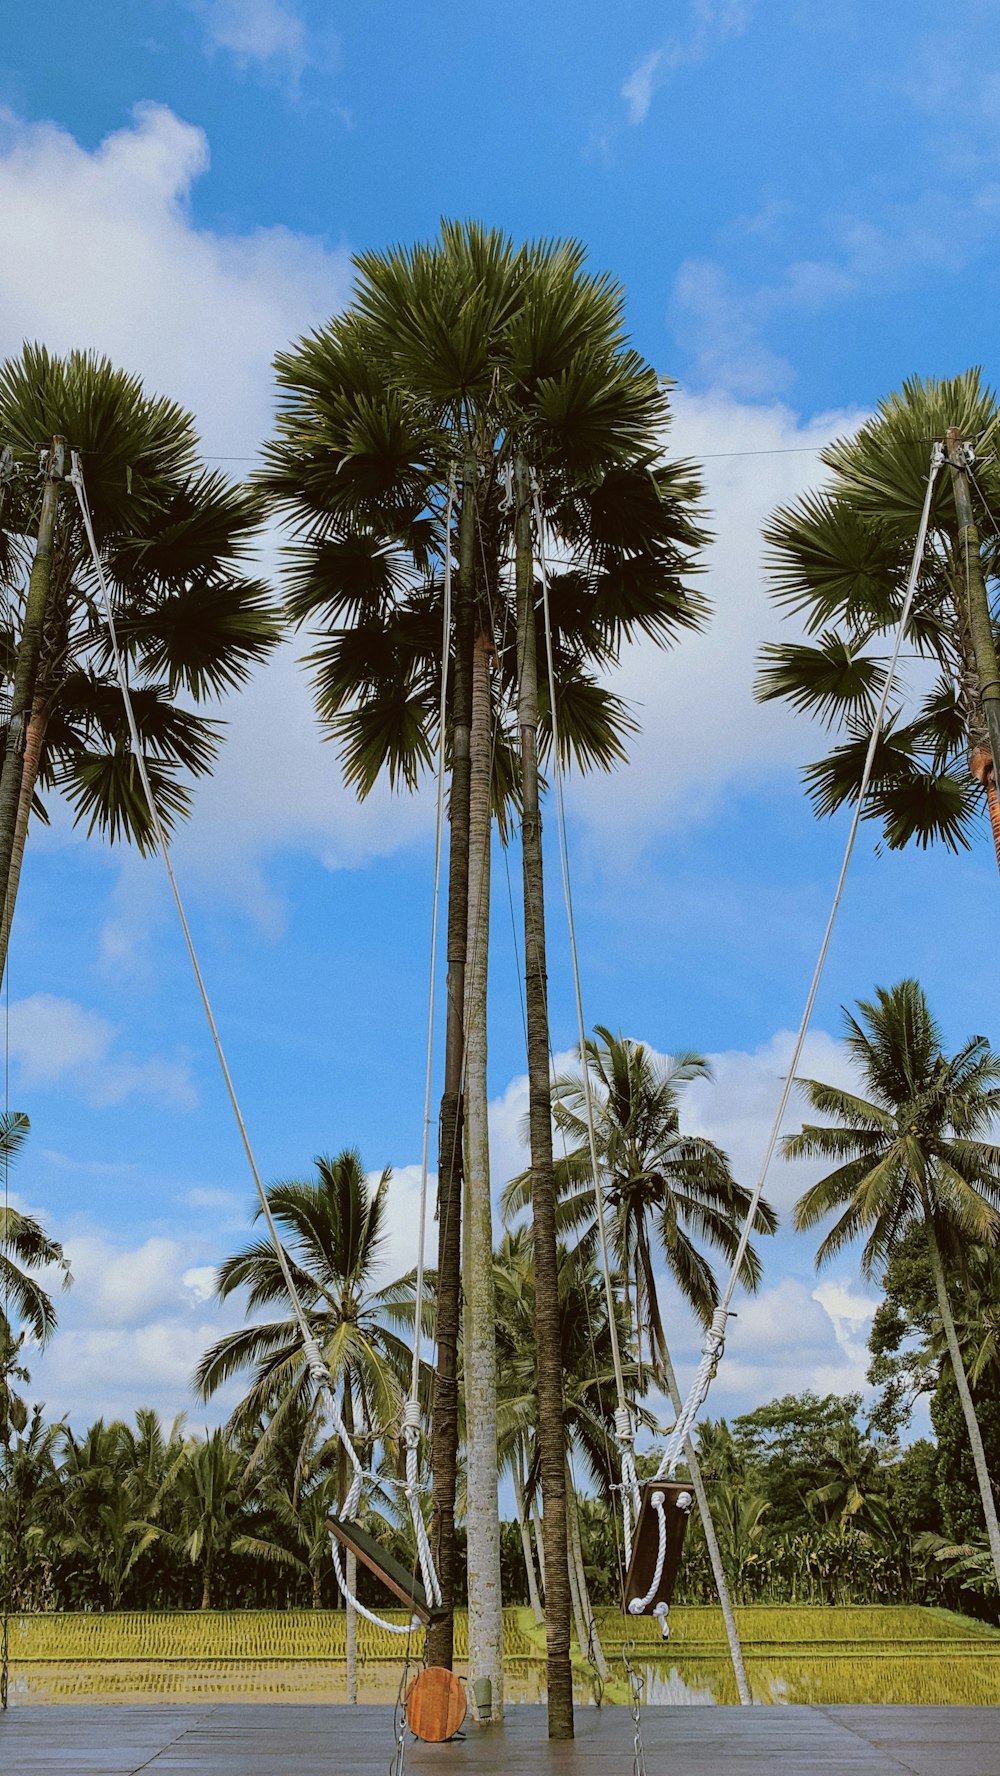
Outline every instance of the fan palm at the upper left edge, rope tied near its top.
<path id="1" fill-rule="evenodd" d="M 83 465 L 167 829 L 190 805 L 185 776 L 210 771 L 220 742 L 218 725 L 183 698 L 201 703 L 242 684 L 279 636 L 266 586 L 243 567 L 259 496 L 202 467 L 190 414 L 92 353 L 57 359 L 28 345 L 0 366 L 0 446 L 20 462 L 0 549 L 0 675 L 12 686 L 0 778 L 0 973 L 32 810 L 44 819 L 37 789 L 59 790 L 87 831 L 153 845 L 91 551 L 64 481 L 44 483 L 52 535 L 39 591 L 34 464 L 39 439 L 53 435 Z"/>

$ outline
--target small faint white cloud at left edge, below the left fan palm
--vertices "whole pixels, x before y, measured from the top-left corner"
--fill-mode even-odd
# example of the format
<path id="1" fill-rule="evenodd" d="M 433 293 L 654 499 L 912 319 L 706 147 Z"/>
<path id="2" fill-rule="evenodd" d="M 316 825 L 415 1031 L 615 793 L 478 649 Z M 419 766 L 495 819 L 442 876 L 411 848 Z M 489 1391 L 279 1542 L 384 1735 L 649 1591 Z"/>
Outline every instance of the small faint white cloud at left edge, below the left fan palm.
<path id="1" fill-rule="evenodd" d="M 115 1053 L 117 1030 L 76 1000 L 32 993 L 11 1005 L 11 1057 L 21 1089 L 64 1085 L 87 1103 L 158 1098 L 179 1110 L 197 1103 L 187 1058 L 133 1060 Z"/>

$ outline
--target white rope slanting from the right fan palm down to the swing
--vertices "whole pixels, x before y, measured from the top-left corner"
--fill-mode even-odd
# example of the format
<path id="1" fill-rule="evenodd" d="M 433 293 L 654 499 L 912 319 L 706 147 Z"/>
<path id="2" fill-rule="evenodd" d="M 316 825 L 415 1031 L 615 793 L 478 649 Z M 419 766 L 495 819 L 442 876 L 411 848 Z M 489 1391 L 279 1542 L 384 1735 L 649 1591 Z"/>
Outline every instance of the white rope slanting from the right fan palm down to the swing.
<path id="1" fill-rule="evenodd" d="M 906 625 L 909 622 L 909 611 L 911 611 L 911 606 L 913 606 L 913 597 L 917 593 L 917 583 L 920 579 L 920 568 L 924 565 L 924 549 L 925 549 L 925 543 L 927 543 L 927 526 L 929 526 L 929 520 L 931 520 L 931 496 L 934 492 L 934 481 L 936 481 L 938 469 L 941 467 L 943 460 L 945 460 L 945 456 L 943 456 L 941 446 L 934 444 L 934 449 L 931 453 L 931 467 L 929 467 L 929 472 L 927 472 L 927 492 L 924 494 L 924 510 L 920 513 L 920 524 L 918 524 L 918 529 L 917 529 L 917 542 L 913 545 L 913 561 L 911 561 L 911 567 L 909 567 L 909 575 L 908 575 L 908 581 L 906 581 L 906 593 L 904 593 L 904 599 L 902 599 L 902 609 L 899 613 L 899 625 L 897 625 L 897 630 L 895 630 L 895 643 L 893 643 L 893 650 L 892 650 L 890 662 L 888 662 L 888 668 L 886 668 L 885 684 L 883 684 L 883 691 L 881 691 L 881 696 L 879 696 L 879 705 L 876 709 L 876 716 L 874 716 L 874 721 L 872 721 L 872 735 L 870 735 L 870 741 L 869 741 L 869 751 L 865 755 L 865 769 L 861 771 L 861 783 L 860 783 L 860 789 L 858 789 L 858 799 L 854 803 L 854 813 L 853 813 L 851 828 L 849 828 L 849 833 L 847 833 L 847 844 L 844 847 L 844 861 L 840 865 L 840 874 L 837 877 L 837 888 L 835 888 L 835 893 L 833 893 L 833 906 L 829 908 L 829 918 L 826 920 L 826 929 L 822 932 L 822 941 L 819 945 L 819 955 L 817 955 L 817 961 L 815 961 L 815 968 L 813 968 L 810 989 L 808 989 L 805 1009 L 803 1009 L 803 1016 L 801 1016 L 801 1021 L 799 1021 L 799 1030 L 798 1030 L 798 1035 L 796 1035 L 796 1044 L 794 1044 L 794 1050 L 792 1050 L 792 1058 L 789 1062 L 789 1071 L 785 1073 L 785 1083 L 782 1087 L 782 1098 L 778 1101 L 778 1110 L 776 1110 L 774 1121 L 771 1124 L 771 1133 L 767 1137 L 767 1146 L 764 1149 L 764 1162 L 760 1165 L 757 1185 L 753 1186 L 753 1195 L 751 1195 L 748 1209 L 746 1209 L 746 1218 L 742 1222 L 742 1231 L 741 1231 L 741 1236 L 739 1236 L 739 1245 L 735 1249 L 735 1256 L 734 1256 L 734 1261 L 732 1261 L 732 1266 L 730 1266 L 728 1282 L 726 1282 L 723 1298 L 721 1298 L 719 1305 L 716 1307 L 716 1312 L 712 1316 L 712 1323 L 709 1327 L 705 1343 L 702 1346 L 702 1362 L 698 1364 L 698 1369 L 694 1373 L 694 1380 L 691 1384 L 691 1391 L 687 1394 L 687 1399 L 684 1401 L 684 1407 L 680 1410 L 677 1424 L 673 1426 L 673 1431 L 670 1433 L 670 1439 L 668 1439 L 668 1444 L 666 1444 L 666 1449 L 664 1449 L 664 1455 L 663 1455 L 663 1462 L 661 1462 L 659 1471 L 657 1471 L 657 1479 L 668 1478 L 668 1476 L 671 1476 L 675 1472 L 677 1463 L 680 1462 L 684 1442 L 687 1440 L 687 1435 L 693 1430 L 693 1424 L 694 1424 L 694 1419 L 698 1417 L 698 1412 L 702 1410 L 705 1399 L 709 1398 L 709 1389 L 712 1385 L 712 1380 L 716 1376 L 716 1369 L 719 1368 L 719 1360 L 721 1360 L 721 1355 L 723 1355 L 723 1350 L 725 1350 L 730 1304 L 732 1304 L 732 1298 L 734 1298 L 734 1293 L 735 1293 L 735 1286 L 739 1282 L 739 1273 L 742 1270 L 742 1261 L 746 1257 L 746 1249 L 750 1245 L 750 1234 L 753 1231 L 753 1218 L 755 1218 L 757 1209 L 760 1206 L 760 1197 L 764 1195 L 764 1185 L 767 1183 L 767 1172 L 771 1170 L 771 1160 L 774 1158 L 774 1149 L 778 1146 L 778 1137 L 782 1133 L 782 1122 L 785 1121 L 785 1110 L 789 1108 L 789 1099 L 792 1096 L 792 1085 L 796 1083 L 796 1074 L 798 1074 L 798 1069 L 799 1069 L 799 1060 L 801 1060 L 801 1055 L 803 1055 L 805 1039 L 806 1039 L 808 1027 L 810 1027 L 810 1021 L 812 1021 L 815 996 L 819 993 L 819 984 L 822 980 L 822 971 L 824 971 L 824 966 L 826 966 L 826 955 L 828 955 L 828 950 L 829 950 L 829 940 L 833 938 L 833 927 L 837 924 L 837 913 L 838 913 L 838 908 L 840 908 L 840 897 L 844 893 L 844 883 L 847 881 L 847 868 L 851 865 L 851 856 L 854 852 L 854 840 L 858 838 L 858 828 L 861 824 L 861 813 L 865 810 L 865 796 L 869 794 L 869 785 L 872 781 L 872 769 L 874 769 L 874 762 L 876 762 L 876 749 L 877 749 L 877 744 L 879 744 L 879 739 L 881 739 L 883 721 L 885 721 L 885 714 L 886 714 L 886 709 L 888 709 L 888 700 L 892 696 L 892 689 L 893 689 L 893 682 L 895 682 L 895 668 L 899 664 L 899 654 L 901 654 L 902 641 L 904 641 L 904 636 L 906 636 Z"/>

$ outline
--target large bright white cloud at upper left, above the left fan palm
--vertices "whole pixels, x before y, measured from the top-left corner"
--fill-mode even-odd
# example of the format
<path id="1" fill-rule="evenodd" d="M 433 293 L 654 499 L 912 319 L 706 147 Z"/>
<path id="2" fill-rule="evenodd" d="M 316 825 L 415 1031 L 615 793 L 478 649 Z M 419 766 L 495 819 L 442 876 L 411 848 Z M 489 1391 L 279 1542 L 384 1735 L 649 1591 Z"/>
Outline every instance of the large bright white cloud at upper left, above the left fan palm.
<path id="1" fill-rule="evenodd" d="M 0 112 L 0 357 L 21 339 L 107 352 L 192 407 L 206 451 L 249 456 L 275 350 L 343 302 L 348 265 L 286 227 L 197 227 L 188 195 L 208 165 L 204 131 L 165 105 L 137 105 L 92 151 Z"/>

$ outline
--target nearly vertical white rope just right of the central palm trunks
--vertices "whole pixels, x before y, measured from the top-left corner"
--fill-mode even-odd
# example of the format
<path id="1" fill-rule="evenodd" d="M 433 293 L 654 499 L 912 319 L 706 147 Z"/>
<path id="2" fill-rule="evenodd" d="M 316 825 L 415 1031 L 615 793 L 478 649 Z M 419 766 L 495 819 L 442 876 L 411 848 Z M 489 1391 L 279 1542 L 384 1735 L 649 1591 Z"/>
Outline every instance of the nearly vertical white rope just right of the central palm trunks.
<path id="1" fill-rule="evenodd" d="M 593 1201 L 597 1204 L 597 1243 L 600 1249 L 600 1268 L 604 1273 L 604 1296 L 607 1304 L 607 1330 L 611 1337 L 611 1364 L 615 1369 L 615 1391 L 618 1408 L 615 1412 L 615 1435 L 622 1451 L 622 1527 L 625 1542 L 625 1561 L 632 1558 L 632 1513 L 639 1515 L 639 1481 L 632 1458 L 632 1414 L 625 1394 L 625 1375 L 622 1369 L 622 1346 L 618 1343 L 618 1320 L 615 1312 L 615 1286 L 611 1282 L 611 1259 L 607 1256 L 607 1222 L 604 1217 L 604 1190 L 600 1183 L 600 1165 L 597 1160 L 597 1130 L 593 1122 L 593 1094 L 590 1089 L 590 1060 L 586 1051 L 586 1023 L 583 1016 L 583 987 L 579 971 L 579 950 L 574 918 L 574 897 L 570 886 L 570 851 L 567 840 L 567 805 L 563 794 L 563 764 L 560 751 L 560 718 L 556 710 L 556 661 L 552 652 L 552 620 L 549 613 L 549 565 L 545 559 L 545 529 L 542 519 L 542 501 L 538 483 L 531 478 L 531 499 L 535 506 L 535 531 L 538 536 L 538 568 L 542 575 L 542 618 L 545 629 L 545 664 L 549 671 L 549 719 L 552 723 L 552 783 L 556 787 L 556 826 L 560 835 L 560 872 L 563 877 L 563 900 L 567 904 L 567 929 L 570 940 L 570 959 L 574 971 L 574 996 L 577 1014 L 579 1060 L 583 1073 L 583 1101 L 586 1110 L 586 1138 L 590 1147 L 590 1167 L 593 1174 Z"/>

